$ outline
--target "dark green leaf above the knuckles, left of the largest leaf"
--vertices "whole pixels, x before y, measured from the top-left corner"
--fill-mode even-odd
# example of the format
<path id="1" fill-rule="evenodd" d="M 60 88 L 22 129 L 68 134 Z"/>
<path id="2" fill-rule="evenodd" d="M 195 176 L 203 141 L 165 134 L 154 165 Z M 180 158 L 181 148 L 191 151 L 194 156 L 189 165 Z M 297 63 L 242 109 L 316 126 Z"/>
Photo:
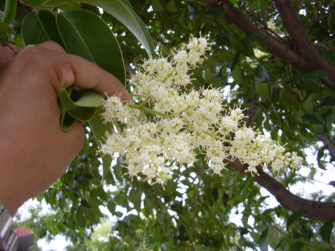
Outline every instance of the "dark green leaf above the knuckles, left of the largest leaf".
<path id="1" fill-rule="evenodd" d="M 53 40 L 64 47 L 56 18 L 49 10 L 38 10 L 28 14 L 23 20 L 21 29 L 25 45 Z"/>

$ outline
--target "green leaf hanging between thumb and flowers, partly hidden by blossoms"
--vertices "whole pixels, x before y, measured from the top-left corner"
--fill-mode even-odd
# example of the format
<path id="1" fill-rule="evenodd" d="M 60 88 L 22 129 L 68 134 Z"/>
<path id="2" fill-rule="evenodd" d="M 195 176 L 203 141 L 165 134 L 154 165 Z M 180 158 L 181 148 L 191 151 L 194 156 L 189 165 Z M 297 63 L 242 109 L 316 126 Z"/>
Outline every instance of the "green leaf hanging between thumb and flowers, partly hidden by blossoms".
<path id="1" fill-rule="evenodd" d="M 103 109 L 98 109 L 94 116 L 88 121 L 99 148 L 101 144 L 105 143 L 106 133 L 113 133 L 113 124 L 110 122 L 104 123 L 103 119 L 101 118 L 102 113 Z M 105 174 L 107 174 L 111 168 L 111 156 L 101 155 L 101 159 L 103 159 L 103 174 L 105 176 Z"/>

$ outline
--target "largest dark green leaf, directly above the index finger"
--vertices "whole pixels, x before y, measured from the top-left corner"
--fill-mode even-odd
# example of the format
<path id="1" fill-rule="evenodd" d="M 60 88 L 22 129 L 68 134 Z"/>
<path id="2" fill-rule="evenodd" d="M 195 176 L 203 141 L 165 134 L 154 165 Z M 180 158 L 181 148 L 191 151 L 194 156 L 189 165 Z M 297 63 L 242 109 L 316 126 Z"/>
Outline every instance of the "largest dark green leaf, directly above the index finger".
<path id="1" fill-rule="evenodd" d="M 125 83 L 126 72 L 120 46 L 99 16 L 85 10 L 75 10 L 59 13 L 56 21 L 69 53 L 95 62 Z"/>

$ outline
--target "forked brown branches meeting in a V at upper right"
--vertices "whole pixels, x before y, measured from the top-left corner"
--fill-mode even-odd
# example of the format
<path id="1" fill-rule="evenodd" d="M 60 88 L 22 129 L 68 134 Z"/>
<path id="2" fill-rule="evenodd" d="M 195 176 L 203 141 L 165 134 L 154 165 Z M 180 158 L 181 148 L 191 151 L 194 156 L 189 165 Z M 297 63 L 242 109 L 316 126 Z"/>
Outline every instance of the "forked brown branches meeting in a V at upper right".
<path id="1" fill-rule="evenodd" d="M 289 32 L 295 48 L 289 42 L 282 40 L 267 31 L 257 27 L 243 12 L 237 10 L 226 0 L 202 0 L 215 8 L 222 8 L 225 16 L 232 21 L 241 31 L 247 35 L 258 34 L 265 38 L 267 42 L 265 49 L 278 57 L 282 62 L 293 64 L 305 72 L 312 70 L 324 70 L 329 76 L 329 81 L 322 83 L 328 88 L 335 90 L 335 66 L 324 60 L 319 55 L 314 44 L 308 38 L 308 34 L 299 22 L 297 11 L 288 0 L 274 0 L 278 6 L 278 11 L 284 23 L 284 27 Z"/>

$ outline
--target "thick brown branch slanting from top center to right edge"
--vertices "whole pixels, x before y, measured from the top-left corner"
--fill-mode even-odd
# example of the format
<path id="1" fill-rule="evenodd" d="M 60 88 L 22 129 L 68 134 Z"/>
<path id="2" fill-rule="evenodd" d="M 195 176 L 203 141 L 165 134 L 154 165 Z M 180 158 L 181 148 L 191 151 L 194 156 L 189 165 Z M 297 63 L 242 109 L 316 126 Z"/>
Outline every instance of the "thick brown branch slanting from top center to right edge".
<path id="1" fill-rule="evenodd" d="M 302 54 L 299 51 L 293 49 L 289 42 L 273 36 L 267 31 L 267 29 L 261 29 L 254 25 L 243 12 L 237 10 L 234 6 L 232 6 L 226 0 L 202 0 L 204 3 L 207 3 L 213 7 L 221 8 L 223 7 L 223 11 L 226 17 L 229 18 L 232 23 L 234 23 L 241 31 L 243 31 L 247 35 L 258 34 L 265 38 L 267 42 L 265 49 L 267 49 L 270 53 L 278 57 L 282 62 L 286 62 L 287 64 L 293 64 L 298 68 L 308 72 L 311 70 L 325 70 L 329 77 L 329 83 L 324 83 L 328 88 L 335 90 L 335 66 L 332 66 L 329 62 L 323 60 L 320 56 L 318 60 L 314 60 L 316 57 L 310 58 L 306 57 L 308 54 L 308 50 L 306 53 Z M 279 1 L 279 0 L 278 0 Z M 309 38 L 308 38 L 309 39 Z M 314 45 L 312 44 L 313 48 Z M 316 49 L 314 48 L 313 51 Z M 319 55 L 319 54 L 317 54 Z"/>

